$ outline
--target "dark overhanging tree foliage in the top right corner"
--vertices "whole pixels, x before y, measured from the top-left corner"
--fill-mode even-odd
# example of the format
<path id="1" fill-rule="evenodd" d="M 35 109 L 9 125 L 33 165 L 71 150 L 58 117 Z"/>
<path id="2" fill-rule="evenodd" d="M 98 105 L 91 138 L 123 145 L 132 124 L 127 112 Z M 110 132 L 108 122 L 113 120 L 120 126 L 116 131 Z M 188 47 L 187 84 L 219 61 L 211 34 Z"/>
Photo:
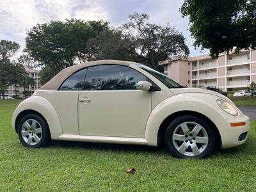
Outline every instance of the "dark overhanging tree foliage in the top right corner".
<path id="1" fill-rule="evenodd" d="M 255 0 L 185 0 L 180 12 L 189 17 L 195 47 L 210 49 L 212 57 L 256 47 Z"/>

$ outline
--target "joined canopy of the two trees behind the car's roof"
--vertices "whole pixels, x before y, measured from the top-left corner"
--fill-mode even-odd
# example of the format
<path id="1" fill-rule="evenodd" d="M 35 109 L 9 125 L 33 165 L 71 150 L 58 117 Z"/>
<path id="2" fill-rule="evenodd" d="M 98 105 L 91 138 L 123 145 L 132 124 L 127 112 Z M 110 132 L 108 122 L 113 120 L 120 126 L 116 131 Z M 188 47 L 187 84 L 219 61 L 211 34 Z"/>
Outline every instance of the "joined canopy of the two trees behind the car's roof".
<path id="1" fill-rule="evenodd" d="M 158 62 L 188 56 L 184 36 L 166 25 L 151 24 L 134 13 L 119 28 L 109 22 L 71 19 L 36 24 L 26 37 L 24 59 L 42 66 L 42 84 L 61 69 L 90 60 L 128 60 L 162 70 Z"/>

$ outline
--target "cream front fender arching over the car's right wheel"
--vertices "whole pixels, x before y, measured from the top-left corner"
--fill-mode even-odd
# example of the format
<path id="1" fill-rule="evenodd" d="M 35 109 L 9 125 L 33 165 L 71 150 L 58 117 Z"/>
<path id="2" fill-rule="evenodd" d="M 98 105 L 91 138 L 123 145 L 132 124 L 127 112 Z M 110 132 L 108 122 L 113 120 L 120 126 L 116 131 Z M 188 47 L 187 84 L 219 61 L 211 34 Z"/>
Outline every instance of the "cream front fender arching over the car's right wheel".
<path id="1" fill-rule="evenodd" d="M 145 138 L 148 145 L 157 146 L 157 134 L 162 122 L 168 116 L 180 111 L 195 111 L 214 118 L 220 113 L 220 107 L 216 103 L 215 95 L 207 93 L 182 93 L 168 97 L 160 102 L 148 117 Z"/>

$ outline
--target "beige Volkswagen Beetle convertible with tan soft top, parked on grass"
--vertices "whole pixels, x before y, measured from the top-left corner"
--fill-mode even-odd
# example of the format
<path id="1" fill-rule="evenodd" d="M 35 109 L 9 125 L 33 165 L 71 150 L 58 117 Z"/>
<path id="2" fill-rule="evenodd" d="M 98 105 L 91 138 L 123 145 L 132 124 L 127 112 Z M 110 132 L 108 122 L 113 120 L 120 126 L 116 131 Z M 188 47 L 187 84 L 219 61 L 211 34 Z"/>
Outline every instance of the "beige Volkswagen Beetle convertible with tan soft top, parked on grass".
<path id="1" fill-rule="evenodd" d="M 59 74 L 15 109 L 22 145 L 50 140 L 157 146 L 175 157 L 207 157 L 246 141 L 249 118 L 227 97 L 184 88 L 128 61 L 91 61 Z"/>

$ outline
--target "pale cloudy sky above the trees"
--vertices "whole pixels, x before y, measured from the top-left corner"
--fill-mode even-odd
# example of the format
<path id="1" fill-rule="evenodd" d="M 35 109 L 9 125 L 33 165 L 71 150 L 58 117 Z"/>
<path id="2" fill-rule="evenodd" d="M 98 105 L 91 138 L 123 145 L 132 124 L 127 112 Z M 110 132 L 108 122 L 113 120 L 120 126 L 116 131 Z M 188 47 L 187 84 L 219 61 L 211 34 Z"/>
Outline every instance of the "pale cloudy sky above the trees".
<path id="1" fill-rule="evenodd" d="M 182 18 L 179 8 L 183 0 L 0 0 L 0 39 L 20 44 L 13 57 L 22 54 L 26 33 L 37 23 L 50 20 L 83 19 L 108 20 L 117 27 L 128 20 L 134 12 L 148 13 L 150 22 L 169 23 L 186 37 L 189 56 L 207 54 L 193 47 L 193 38 L 188 31 L 188 18 Z"/>

